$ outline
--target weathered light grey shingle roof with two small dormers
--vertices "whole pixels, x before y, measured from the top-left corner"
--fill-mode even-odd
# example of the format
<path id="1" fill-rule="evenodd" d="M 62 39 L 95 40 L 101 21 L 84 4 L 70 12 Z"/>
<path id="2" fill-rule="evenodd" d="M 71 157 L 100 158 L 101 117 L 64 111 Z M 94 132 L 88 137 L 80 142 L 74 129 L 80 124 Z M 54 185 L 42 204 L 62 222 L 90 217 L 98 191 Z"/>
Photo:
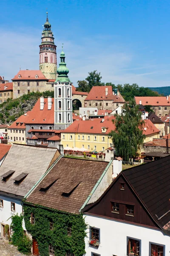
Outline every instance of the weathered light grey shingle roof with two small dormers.
<path id="1" fill-rule="evenodd" d="M 47 171 L 56 154 L 59 155 L 57 148 L 13 144 L 0 166 L 0 177 L 11 170 L 14 173 L 6 182 L 0 179 L 0 191 L 25 196 Z M 14 179 L 23 172 L 28 173 L 26 178 L 19 185 L 14 184 Z"/>

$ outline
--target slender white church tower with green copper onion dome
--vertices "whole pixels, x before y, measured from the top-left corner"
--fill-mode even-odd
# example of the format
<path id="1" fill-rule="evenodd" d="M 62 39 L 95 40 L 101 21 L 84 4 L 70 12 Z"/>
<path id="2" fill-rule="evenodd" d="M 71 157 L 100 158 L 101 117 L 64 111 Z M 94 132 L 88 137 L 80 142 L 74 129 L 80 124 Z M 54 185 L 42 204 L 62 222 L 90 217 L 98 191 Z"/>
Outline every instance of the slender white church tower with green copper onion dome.
<path id="1" fill-rule="evenodd" d="M 65 53 L 61 52 L 61 62 L 57 69 L 58 77 L 54 82 L 54 129 L 64 130 L 73 122 L 72 117 L 72 83 L 68 78 Z"/>

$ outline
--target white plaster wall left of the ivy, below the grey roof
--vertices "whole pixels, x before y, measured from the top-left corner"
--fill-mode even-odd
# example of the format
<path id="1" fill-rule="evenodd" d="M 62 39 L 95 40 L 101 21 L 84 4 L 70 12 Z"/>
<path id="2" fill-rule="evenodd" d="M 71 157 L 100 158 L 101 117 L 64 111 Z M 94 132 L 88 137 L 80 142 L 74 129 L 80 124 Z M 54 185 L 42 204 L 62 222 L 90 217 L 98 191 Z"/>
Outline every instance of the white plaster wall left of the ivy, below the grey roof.
<path id="1" fill-rule="evenodd" d="M 3 199 L 3 208 L 0 208 L 0 224 L 11 224 L 11 216 L 14 214 L 20 215 L 22 214 L 22 205 L 21 201 L 13 199 L 13 198 L 6 198 L 3 195 L 0 195 L 0 199 Z M 11 202 L 15 203 L 15 212 L 11 212 Z M 25 224 L 23 221 L 23 229 L 26 230 Z M 0 232 L 1 236 L 3 235 L 2 232 L 2 225 L 0 225 Z"/>

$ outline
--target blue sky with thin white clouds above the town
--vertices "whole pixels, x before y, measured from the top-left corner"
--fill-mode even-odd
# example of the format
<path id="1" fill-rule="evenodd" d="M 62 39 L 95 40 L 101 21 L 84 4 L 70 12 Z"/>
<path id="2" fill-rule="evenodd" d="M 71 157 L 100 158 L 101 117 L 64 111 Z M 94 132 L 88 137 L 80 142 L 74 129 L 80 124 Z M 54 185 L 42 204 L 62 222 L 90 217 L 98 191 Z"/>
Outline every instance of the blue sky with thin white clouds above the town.
<path id="1" fill-rule="evenodd" d="M 0 75 L 39 69 L 46 8 L 57 61 L 62 43 L 74 85 L 101 72 L 103 82 L 170 86 L 169 0 L 1 0 Z"/>

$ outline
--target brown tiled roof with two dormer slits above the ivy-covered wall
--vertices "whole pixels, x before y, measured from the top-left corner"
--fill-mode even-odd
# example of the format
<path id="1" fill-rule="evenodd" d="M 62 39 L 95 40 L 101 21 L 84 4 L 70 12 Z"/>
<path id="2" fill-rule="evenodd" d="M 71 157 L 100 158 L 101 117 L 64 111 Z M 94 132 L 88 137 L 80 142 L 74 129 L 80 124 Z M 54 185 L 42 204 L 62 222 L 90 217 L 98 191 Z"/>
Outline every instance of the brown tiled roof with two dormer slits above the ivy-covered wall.
<path id="1" fill-rule="evenodd" d="M 62 157 L 26 202 L 78 214 L 107 166 L 107 162 Z M 40 191 L 52 182 L 54 184 L 45 193 Z M 63 193 L 70 193 L 70 196 L 65 197 Z"/>

